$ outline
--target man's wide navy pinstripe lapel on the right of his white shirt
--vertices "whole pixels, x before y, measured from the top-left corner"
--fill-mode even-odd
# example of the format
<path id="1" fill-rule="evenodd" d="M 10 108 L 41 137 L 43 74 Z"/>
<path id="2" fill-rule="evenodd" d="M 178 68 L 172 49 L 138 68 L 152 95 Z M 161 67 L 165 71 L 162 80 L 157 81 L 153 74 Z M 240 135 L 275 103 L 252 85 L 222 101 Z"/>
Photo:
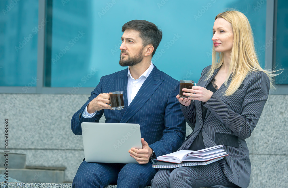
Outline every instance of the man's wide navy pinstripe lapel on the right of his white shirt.
<path id="1" fill-rule="evenodd" d="M 126 108 L 125 104 L 126 111 L 120 123 L 126 123 L 143 106 L 143 104 L 150 98 L 150 96 L 155 92 L 155 90 L 160 86 L 162 82 L 163 80 L 161 80 L 160 71 L 154 65 L 153 70 L 151 71 L 151 73 L 141 86 L 140 90 L 138 91 L 138 93 L 136 94 L 135 98 L 132 100 L 130 105 L 128 106 L 127 103 Z"/>

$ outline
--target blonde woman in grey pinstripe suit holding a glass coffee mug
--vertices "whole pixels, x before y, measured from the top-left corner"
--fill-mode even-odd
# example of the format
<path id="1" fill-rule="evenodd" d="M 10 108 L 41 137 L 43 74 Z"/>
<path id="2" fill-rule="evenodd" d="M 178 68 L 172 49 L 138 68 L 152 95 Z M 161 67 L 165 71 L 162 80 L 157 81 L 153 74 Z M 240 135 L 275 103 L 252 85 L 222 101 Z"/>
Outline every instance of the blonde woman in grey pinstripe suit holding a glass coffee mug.
<path id="1" fill-rule="evenodd" d="M 251 26 L 241 12 L 219 13 L 212 41 L 212 65 L 204 68 L 198 86 L 183 89 L 190 97 L 177 96 L 187 123 L 194 129 L 179 150 L 224 144 L 221 149 L 229 155 L 206 166 L 161 169 L 151 181 L 152 187 L 249 185 L 251 163 L 245 139 L 256 127 L 270 85 L 274 87 L 273 71 L 260 67 Z"/>

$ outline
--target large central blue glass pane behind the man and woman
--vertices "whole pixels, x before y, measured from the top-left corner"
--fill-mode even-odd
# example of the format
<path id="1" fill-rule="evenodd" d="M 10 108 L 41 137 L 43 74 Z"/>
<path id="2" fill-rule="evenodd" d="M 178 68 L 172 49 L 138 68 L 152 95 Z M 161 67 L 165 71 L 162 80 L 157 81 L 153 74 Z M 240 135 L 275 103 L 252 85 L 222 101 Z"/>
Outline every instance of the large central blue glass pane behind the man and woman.
<path id="1" fill-rule="evenodd" d="M 51 86 L 95 87 L 101 76 L 124 69 L 119 65 L 121 28 L 133 19 L 153 22 L 162 29 L 162 41 L 152 59 L 158 69 L 177 80 L 198 81 L 202 69 L 211 64 L 215 16 L 227 8 L 242 11 L 249 19 L 264 67 L 263 2 L 86 0 L 63 4 L 54 0 Z"/>

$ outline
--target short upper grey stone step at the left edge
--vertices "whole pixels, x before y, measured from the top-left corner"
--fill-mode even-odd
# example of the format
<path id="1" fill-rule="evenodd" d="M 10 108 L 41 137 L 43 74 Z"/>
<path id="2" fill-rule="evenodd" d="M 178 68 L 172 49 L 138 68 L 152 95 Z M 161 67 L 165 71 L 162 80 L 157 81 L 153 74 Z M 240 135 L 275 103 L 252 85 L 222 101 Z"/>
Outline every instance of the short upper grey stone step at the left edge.
<path id="1" fill-rule="evenodd" d="M 6 160 L 5 153 L 0 153 L 0 168 L 7 168 L 4 166 Z M 18 154 L 18 153 L 10 153 L 8 154 L 8 168 L 25 168 L 26 167 L 26 155 L 25 154 Z"/>

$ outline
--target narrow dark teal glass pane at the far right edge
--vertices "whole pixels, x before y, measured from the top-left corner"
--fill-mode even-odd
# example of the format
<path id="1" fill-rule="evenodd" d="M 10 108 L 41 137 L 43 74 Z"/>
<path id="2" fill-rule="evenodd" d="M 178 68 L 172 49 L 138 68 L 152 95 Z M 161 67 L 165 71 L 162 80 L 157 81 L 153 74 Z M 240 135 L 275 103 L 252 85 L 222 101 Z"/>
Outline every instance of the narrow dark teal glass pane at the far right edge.
<path id="1" fill-rule="evenodd" d="M 276 84 L 288 84 L 288 1 L 278 0 L 276 69 L 284 71 L 276 77 Z"/>

